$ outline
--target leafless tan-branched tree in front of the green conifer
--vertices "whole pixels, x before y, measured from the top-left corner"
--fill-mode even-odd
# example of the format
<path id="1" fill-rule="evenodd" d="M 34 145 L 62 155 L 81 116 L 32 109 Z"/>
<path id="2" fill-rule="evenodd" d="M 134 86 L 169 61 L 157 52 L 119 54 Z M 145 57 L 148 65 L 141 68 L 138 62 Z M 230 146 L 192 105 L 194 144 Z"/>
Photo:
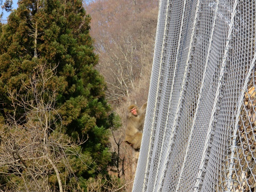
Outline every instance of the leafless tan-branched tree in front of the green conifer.
<path id="1" fill-rule="evenodd" d="M 76 191 L 76 177 L 70 157 L 82 159 L 81 143 L 64 134 L 55 101 L 61 79 L 54 67 L 40 64 L 28 79 L 22 79 L 21 90 L 9 90 L 14 111 L 8 123 L 0 126 L 0 177 L 6 181 L 5 191 Z M 16 118 L 23 109 L 23 116 Z M 3 182 L 2 182 L 3 183 Z"/>

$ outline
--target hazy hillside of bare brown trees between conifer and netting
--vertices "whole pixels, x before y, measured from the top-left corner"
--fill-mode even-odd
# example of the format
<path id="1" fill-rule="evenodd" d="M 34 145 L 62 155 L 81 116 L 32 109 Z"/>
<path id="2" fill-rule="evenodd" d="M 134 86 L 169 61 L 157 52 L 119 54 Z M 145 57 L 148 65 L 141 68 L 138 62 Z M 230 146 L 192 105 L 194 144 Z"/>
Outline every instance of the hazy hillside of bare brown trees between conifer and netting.
<path id="1" fill-rule="evenodd" d="M 129 98 L 149 85 L 157 2 L 97 0 L 87 6 L 110 101 Z"/>

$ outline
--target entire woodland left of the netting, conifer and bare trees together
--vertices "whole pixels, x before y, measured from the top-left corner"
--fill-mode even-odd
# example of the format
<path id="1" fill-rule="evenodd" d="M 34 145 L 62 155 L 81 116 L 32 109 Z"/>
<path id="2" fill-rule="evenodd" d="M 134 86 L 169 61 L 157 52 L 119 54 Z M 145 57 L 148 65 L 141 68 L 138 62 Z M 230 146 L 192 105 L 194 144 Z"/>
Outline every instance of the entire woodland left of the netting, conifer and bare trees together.
<path id="1" fill-rule="evenodd" d="M 12 10 L 12 1 L 0 1 Z M 0 23 L 0 191 L 131 191 L 157 0 L 19 0 Z"/>

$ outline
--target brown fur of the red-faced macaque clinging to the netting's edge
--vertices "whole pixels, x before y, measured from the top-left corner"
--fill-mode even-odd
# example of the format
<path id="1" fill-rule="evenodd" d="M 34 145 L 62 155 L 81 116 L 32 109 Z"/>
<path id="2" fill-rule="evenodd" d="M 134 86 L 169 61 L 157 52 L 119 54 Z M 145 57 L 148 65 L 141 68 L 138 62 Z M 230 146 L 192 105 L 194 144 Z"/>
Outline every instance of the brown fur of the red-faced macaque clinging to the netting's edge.
<path id="1" fill-rule="evenodd" d="M 137 116 L 131 113 L 131 109 L 133 108 L 136 109 Z M 140 109 L 137 107 L 137 105 L 130 105 L 128 107 L 125 141 L 129 143 L 134 149 L 140 149 L 146 108 L 147 102 L 145 102 L 145 104 Z"/>

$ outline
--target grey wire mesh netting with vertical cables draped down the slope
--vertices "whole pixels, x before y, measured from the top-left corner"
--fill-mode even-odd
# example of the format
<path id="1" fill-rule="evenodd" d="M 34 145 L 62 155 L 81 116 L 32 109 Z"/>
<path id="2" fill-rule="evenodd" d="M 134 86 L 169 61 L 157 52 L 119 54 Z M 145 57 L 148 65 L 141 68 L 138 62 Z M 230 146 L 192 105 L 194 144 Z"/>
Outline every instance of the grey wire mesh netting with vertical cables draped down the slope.
<path id="1" fill-rule="evenodd" d="M 255 0 L 160 0 L 134 192 L 256 192 L 255 41 Z"/>

